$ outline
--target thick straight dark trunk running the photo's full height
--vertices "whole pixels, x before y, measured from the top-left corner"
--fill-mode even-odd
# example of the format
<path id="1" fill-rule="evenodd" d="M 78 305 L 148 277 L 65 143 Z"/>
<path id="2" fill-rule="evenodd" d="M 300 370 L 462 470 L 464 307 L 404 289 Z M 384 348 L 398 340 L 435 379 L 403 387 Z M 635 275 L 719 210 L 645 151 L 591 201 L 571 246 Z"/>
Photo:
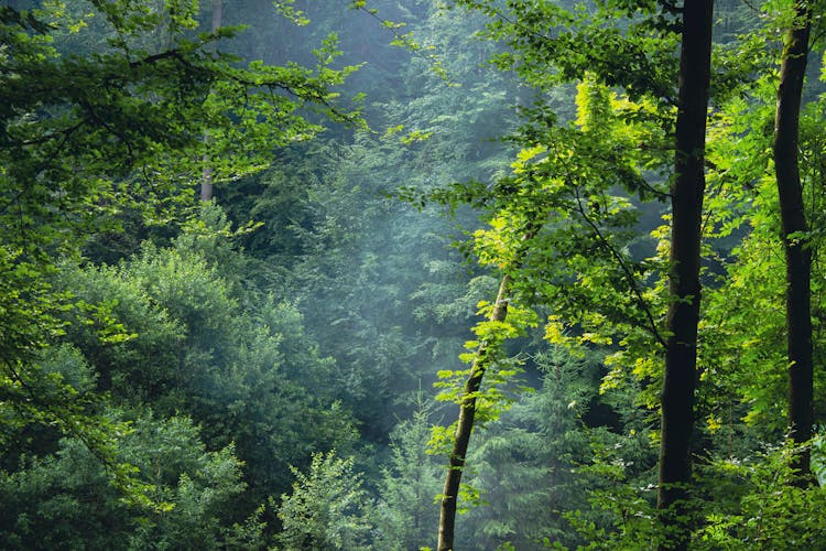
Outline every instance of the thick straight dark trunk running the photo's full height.
<path id="1" fill-rule="evenodd" d="M 672 184 L 669 338 L 662 389 L 657 509 L 667 541 L 660 549 L 686 549 L 691 537 L 688 485 L 697 379 L 697 323 L 700 302 L 700 224 L 705 193 L 706 111 L 711 65 L 714 0 L 686 0 L 680 56 Z"/>

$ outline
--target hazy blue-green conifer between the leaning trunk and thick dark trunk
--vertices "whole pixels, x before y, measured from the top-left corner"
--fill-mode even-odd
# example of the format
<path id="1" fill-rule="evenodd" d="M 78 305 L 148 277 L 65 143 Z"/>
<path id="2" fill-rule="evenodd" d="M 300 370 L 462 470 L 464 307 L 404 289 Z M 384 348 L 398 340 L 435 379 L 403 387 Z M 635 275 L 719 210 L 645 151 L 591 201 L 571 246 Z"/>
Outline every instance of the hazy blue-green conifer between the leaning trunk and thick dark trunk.
<path id="1" fill-rule="evenodd" d="M 597 403 L 597 380 L 588 372 L 597 364 L 574 358 L 563 347 L 531 359 L 542 372 L 542 386 L 479 434 L 470 454 L 468 476 L 485 505 L 468 511 L 458 527 L 463 547 L 470 548 L 471 539 L 476 549 L 506 542 L 515 549 L 587 543 L 564 517 L 586 509 L 586 489 L 593 488 L 578 467 L 596 439 L 584 417 Z"/>

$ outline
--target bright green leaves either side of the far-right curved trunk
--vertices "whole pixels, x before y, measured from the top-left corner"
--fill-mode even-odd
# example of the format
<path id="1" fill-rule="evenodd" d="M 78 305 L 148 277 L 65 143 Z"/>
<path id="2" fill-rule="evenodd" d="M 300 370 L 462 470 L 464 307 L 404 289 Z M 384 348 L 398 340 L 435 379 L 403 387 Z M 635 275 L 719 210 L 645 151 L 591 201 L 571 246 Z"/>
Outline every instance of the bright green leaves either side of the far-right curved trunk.
<path id="1" fill-rule="evenodd" d="M 731 98 L 711 121 L 708 226 L 710 248 L 725 276 L 707 293 L 700 335 L 702 417 L 713 433 L 747 431 L 774 442 L 786 430 L 785 263 L 780 239 L 778 191 L 771 164 L 775 76 L 760 79 L 743 98 Z M 812 220 L 813 249 L 820 247 L 824 99 L 801 114 L 801 176 Z M 823 350 L 823 278 L 813 266 L 815 358 Z M 815 386 L 825 371 L 815 364 Z M 824 411 L 815 393 L 815 419 Z M 749 425 L 743 429 L 742 423 Z M 736 446 L 737 447 L 737 446 Z M 740 456 L 746 451 L 735 453 Z"/>

